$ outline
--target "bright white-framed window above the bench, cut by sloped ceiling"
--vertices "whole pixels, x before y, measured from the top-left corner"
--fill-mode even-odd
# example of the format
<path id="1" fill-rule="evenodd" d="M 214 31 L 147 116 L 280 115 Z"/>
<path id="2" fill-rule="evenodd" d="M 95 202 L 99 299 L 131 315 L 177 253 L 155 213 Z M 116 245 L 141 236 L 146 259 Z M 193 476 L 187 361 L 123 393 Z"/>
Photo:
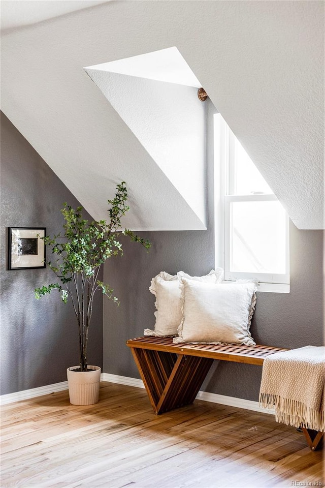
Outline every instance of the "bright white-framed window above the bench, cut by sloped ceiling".
<path id="1" fill-rule="evenodd" d="M 216 254 L 224 279 L 257 278 L 259 291 L 288 292 L 288 216 L 220 114 L 214 142 Z"/>

